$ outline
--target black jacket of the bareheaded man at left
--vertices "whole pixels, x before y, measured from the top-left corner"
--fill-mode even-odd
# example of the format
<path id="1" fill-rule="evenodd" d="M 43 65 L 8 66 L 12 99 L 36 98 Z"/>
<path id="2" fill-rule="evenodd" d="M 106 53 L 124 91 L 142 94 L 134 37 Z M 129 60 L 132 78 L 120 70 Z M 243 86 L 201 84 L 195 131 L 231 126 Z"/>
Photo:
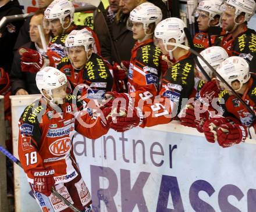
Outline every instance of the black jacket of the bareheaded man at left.
<path id="1" fill-rule="evenodd" d="M 23 46 L 37 50 L 35 48 L 34 42 L 28 42 Z M 29 94 L 40 94 L 37 85 L 35 84 L 36 73 L 33 74 L 30 72 L 22 72 L 20 65 L 20 55 L 19 52 L 16 51 L 13 58 L 12 69 L 10 71 L 10 84 L 12 86 L 12 95 L 15 95 L 17 90 L 19 90 L 20 88 L 25 89 Z"/>

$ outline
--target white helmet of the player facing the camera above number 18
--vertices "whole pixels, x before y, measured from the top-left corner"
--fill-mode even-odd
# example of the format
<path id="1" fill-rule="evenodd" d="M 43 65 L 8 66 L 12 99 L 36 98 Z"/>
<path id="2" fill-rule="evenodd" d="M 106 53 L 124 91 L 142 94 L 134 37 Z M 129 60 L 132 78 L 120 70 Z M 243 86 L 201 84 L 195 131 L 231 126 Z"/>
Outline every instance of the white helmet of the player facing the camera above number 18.
<path id="1" fill-rule="evenodd" d="M 82 30 L 73 30 L 66 38 L 65 46 L 67 48 L 74 46 L 84 46 L 84 50 L 88 52 L 94 46 L 94 38 L 90 31 L 86 28 Z"/>

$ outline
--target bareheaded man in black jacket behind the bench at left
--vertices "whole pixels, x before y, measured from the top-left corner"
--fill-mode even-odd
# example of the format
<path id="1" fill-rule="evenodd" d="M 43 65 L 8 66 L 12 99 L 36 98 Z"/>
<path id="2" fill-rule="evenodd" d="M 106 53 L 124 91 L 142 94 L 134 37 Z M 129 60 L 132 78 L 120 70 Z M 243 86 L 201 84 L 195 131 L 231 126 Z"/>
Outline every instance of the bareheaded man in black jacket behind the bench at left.
<path id="1" fill-rule="evenodd" d="M 35 12 L 35 15 L 30 20 L 30 42 L 24 44 L 23 47 L 34 49 L 45 55 L 42 49 L 42 42 L 38 32 L 38 24 L 42 24 L 42 18 L 44 17 L 44 10 L 40 9 Z M 45 40 L 48 43 L 50 41 L 49 30 L 44 30 Z M 27 95 L 27 94 L 40 94 L 35 84 L 35 73 L 23 72 L 20 67 L 20 55 L 19 51 L 15 52 L 15 57 L 12 63 L 12 70 L 10 73 L 10 82 L 12 85 L 13 95 Z"/>

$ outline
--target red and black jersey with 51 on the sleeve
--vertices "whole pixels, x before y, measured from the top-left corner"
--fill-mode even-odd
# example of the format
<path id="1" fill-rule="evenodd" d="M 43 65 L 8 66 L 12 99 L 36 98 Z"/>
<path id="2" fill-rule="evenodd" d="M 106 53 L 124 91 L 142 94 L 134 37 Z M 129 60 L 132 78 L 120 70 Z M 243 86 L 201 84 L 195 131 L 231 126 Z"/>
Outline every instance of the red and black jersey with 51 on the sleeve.
<path id="1" fill-rule="evenodd" d="M 140 95 L 141 99 L 152 100 L 151 103 L 140 107 L 145 115 L 140 127 L 166 124 L 177 116 L 182 105 L 186 105 L 184 101 L 189 99 L 193 91 L 194 66 L 193 56 L 187 53 L 166 71 L 159 96 L 150 95 L 148 91 Z"/>

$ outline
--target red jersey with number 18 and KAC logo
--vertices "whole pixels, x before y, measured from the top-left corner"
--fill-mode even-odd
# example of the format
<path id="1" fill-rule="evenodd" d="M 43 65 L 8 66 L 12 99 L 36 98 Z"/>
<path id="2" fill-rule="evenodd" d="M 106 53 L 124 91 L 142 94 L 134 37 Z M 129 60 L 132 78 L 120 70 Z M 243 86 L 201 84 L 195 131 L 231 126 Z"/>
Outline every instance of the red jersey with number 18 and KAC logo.
<path id="1" fill-rule="evenodd" d="M 73 154 L 72 136 L 75 131 L 97 139 L 106 134 L 101 118 L 94 117 L 86 103 L 73 95 L 58 110 L 44 98 L 24 109 L 19 120 L 19 159 L 33 184 L 31 170 L 54 168 L 55 184 L 69 182 L 79 174 Z M 57 111 L 57 112 L 56 112 Z"/>

